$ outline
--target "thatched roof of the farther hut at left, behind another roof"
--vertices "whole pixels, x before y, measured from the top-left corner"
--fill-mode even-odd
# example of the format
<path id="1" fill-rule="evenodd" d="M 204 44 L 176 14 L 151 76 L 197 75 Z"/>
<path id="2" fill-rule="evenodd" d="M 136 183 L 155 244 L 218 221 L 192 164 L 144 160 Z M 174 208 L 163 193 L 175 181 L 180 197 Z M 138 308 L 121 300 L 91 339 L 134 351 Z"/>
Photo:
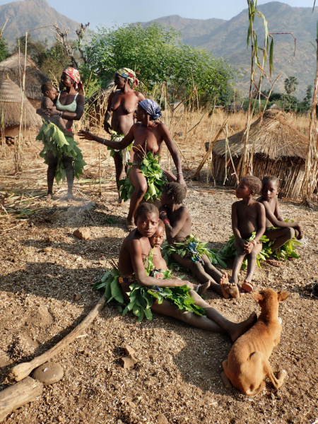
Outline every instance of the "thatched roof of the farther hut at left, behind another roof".
<path id="1" fill-rule="evenodd" d="M 14 53 L 11 57 L 0 62 L 0 83 L 6 79 L 6 75 L 10 75 L 12 81 L 20 87 L 20 75 L 24 70 L 24 54 Z M 41 86 L 47 83 L 49 78 L 45 73 L 37 68 L 34 61 L 27 57 L 25 68 L 25 95 L 28 99 L 41 99 Z"/>

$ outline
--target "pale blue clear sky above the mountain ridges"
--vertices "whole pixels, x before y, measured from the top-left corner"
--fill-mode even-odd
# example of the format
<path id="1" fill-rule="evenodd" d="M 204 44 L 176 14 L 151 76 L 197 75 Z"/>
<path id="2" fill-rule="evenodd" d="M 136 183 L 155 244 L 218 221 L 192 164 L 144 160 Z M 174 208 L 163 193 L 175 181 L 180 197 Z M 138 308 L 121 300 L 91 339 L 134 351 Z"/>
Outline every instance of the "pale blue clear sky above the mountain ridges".
<path id="1" fill-rule="evenodd" d="M 146 22 L 168 15 L 182 18 L 229 20 L 247 8 L 246 0 L 47 0 L 59 13 L 76 20 L 96 25 L 112 26 L 114 23 Z M 259 0 L 259 4 L 270 0 Z M 11 3 L 0 0 L 1 4 Z M 314 0 L 281 0 L 293 7 L 312 7 Z M 317 2 L 318 3 L 318 2 Z"/>

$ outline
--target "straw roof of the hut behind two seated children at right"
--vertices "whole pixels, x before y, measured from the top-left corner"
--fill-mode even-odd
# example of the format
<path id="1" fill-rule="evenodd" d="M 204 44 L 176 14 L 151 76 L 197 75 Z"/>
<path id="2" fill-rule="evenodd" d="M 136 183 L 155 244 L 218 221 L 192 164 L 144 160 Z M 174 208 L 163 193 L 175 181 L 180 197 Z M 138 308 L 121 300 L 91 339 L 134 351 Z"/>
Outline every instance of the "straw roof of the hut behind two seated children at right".
<path id="1" fill-rule="evenodd" d="M 241 156 L 244 148 L 242 136 L 245 130 L 228 138 L 233 157 Z M 266 110 L 263 121 L 257 119 L 249 129 L 249 151 L 268 160 L 281 158 L 301 158 L 305 160 L 307 138 L 285 119 L 285 113 L 279 110 Z M 213 153 L 225 156 L 225 140 L 218 140 Z M 228 152 L 227 152 L 228 153 Z"/>

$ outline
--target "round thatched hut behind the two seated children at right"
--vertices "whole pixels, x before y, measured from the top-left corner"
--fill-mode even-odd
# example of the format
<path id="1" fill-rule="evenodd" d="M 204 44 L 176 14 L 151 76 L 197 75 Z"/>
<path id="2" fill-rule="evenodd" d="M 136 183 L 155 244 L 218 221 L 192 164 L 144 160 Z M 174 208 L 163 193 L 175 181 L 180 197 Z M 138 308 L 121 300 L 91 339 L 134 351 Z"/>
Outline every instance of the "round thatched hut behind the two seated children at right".
<path id="1" fill-rule="evenodd" d="M 235 170 L 240 162 L 244 143 L 244 130 L 228 138 Z M 263 121 L 257 119 L 249 130 L 249 151 L 254 144 L 253 175 L 262 179 L 276 175 L 281 182 L 280 197 L 298 199 L 305 175 L 307 138 L 285 119 L 279 110 L 266 110 Z M 225 180 L 227 186 L 235 186 L 236 178 L 225 140 L 219 140 L 213 148 L 212 174 L 217 184 Z"/>

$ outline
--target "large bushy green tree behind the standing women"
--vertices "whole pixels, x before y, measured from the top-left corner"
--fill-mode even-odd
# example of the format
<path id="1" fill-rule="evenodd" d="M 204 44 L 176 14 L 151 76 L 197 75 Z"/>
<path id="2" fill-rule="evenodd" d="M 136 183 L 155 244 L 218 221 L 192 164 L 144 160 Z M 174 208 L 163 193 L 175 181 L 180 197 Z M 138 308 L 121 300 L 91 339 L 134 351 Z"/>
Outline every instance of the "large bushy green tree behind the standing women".
<path id="1" fill-rule="evenodd" d="M 158 86 L 172 86 L 169 101 L 184 100 L 190 93 L 210 99 L 220 95 L 232 79 L 229 66 L 203 49 L 179 45 L 177 37 L 175 29 L 155 24 L 100 28 L 84 47 L 87 64 L 81 71 L 86 75 L 93 71 L 106 86 L 117 69 L 128 67 L 136 72 L 146 94 L 155 97 Z"/>

